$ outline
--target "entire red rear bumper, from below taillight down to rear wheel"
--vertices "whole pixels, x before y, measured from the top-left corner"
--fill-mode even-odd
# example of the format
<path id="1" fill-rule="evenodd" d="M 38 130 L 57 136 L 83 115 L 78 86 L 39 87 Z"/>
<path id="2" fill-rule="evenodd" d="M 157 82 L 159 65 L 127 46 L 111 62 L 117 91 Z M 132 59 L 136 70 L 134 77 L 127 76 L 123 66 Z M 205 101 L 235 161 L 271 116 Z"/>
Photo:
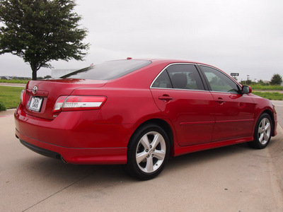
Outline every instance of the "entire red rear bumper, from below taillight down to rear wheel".
<path id="1" fill-rule="evenodd" d="M 15 112 L 16 136 L 33 151 L 74 164 L 125 164 L 133 124 L 96 124 L 96 111 L 62 112 L 54 120 Z M 50 152 L 51 151 L 51 152 Z"/>

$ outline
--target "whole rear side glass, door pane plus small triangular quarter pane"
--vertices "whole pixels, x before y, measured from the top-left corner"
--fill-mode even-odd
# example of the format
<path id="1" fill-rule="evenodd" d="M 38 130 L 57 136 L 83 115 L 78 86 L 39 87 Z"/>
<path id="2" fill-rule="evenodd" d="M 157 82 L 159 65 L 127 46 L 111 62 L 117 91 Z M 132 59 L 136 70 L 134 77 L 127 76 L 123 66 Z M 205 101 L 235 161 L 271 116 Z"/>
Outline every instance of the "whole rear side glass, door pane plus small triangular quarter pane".
<path id="1" fill-rule="evenodd" d="M 195 65 L 173 64 L 154 81 L 153 88 L 204 90 L 202 79 Z"/>

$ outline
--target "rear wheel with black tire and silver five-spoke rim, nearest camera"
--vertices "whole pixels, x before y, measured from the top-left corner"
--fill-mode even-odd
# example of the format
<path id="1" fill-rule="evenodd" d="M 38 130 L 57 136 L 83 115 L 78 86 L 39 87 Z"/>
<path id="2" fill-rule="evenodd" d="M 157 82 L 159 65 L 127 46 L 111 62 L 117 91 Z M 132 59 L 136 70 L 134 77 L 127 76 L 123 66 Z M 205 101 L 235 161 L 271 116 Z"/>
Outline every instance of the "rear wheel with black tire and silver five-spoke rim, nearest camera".
<path id="1" fill-rule="evenodd" d="M 163 170 L 169 152 L 168 136 L 160 126 L 141 126 L 129 141 L 126 171 L 141 180 L 152 179 Z"/>

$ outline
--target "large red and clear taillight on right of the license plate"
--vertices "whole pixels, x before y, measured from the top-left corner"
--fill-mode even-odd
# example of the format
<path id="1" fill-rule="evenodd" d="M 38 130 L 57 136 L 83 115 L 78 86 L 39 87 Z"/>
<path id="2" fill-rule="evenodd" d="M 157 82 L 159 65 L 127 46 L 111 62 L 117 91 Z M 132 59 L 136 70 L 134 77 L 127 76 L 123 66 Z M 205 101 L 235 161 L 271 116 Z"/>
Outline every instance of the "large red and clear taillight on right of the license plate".
<path id="1" fill-rule="evenodd" d="M 74 111 L 74 110 L 98 110 L 106 101 L 105 96 L 89 95 L 70 95 L 60 96 L 55 105 L 53 112 Z"/>

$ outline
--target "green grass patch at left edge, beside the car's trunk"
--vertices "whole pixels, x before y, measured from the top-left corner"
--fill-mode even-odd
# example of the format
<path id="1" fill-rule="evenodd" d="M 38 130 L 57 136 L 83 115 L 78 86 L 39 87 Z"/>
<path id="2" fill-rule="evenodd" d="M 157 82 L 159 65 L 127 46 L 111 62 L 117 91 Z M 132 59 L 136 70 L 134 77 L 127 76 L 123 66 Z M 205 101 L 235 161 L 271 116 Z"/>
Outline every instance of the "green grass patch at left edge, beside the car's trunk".
<path id="1" fill-rule="evenodd" d="M 6 109 L 18 107 L 22 90 L 21 87 L 0 86 L 0 102 L 3 102 Z"/>

